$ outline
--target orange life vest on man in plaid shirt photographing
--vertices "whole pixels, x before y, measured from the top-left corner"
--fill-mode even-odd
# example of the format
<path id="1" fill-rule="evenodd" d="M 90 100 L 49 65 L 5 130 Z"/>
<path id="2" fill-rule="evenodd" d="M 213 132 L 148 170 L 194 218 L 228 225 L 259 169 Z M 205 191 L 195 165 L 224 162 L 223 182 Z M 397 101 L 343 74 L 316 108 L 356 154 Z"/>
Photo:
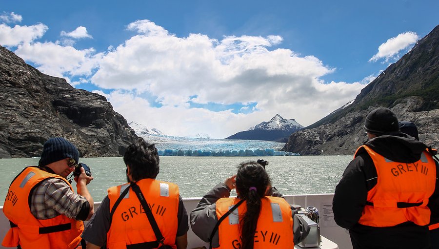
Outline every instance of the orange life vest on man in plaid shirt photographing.
<path id="1" fill-rule="evenodd" d="M 72 249 L 81 240 L 84 223 L 60 214 L 54 218 L 40 220 L 31 213 L 31 194 L 35 187 L 48 178 L 63 177 L 51 174 L 35 166 L 26 167 L 12 181 L 4 201 L 3 212 L 11 228 L 3 239 L 2 246 L 21 248 Z"/>

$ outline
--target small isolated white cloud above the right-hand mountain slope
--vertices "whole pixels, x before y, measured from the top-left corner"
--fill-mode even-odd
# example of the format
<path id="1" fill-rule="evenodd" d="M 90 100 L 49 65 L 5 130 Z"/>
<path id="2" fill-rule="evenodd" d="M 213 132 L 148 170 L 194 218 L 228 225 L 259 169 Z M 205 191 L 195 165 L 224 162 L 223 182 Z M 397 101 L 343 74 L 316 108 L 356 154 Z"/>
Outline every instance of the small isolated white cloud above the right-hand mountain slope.
<path id="1" fill-rule="evenodd" d="M 369 62 L 376 62 L 382 58 L 385 58 L 385 62 L 391 59 L 398 59 L 401 50 L 405 50 L 418 40 L 419 37 L 415 32 L 405 32 L 397 37 L 390 38 L 387 42 L 379 45 L 378 53 L 370 58 Z"/>

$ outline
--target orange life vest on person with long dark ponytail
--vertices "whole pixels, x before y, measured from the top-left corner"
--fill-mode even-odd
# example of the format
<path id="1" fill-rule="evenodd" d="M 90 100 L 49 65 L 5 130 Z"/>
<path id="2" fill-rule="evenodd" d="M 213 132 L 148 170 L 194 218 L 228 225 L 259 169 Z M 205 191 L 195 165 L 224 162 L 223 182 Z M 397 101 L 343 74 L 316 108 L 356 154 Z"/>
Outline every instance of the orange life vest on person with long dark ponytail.
<path id="1" fill-rule="evenodd" d="M 220 219 L 238 198 L 220 198 L 216 202 L 217 217 Z M 261 199 L 261 210 L 254 238 L 254 249 L 291 249 L 293 242 L 293 218 L 290 205 L 282 198 L 266 196 Z M 244 201 L 218 228 L 220 246 L 218 248 L 239 249 L 239 217 L 247 210 Z"/>

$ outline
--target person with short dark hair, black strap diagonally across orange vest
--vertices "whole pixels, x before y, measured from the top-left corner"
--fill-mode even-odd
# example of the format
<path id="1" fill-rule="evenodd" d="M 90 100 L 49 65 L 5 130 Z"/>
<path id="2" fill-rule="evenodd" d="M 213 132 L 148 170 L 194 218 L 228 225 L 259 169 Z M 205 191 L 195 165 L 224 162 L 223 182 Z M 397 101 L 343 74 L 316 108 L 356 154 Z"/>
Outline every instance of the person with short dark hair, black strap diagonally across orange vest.
<path id="1" fill-rule="evenodd" d="M 82 233 L 87 249 L 186 249 L 188 215 L 176 184 L 156 180 L 160 160 L 143 139 L 123 156 L 127 184 L 110 187 Z"/>

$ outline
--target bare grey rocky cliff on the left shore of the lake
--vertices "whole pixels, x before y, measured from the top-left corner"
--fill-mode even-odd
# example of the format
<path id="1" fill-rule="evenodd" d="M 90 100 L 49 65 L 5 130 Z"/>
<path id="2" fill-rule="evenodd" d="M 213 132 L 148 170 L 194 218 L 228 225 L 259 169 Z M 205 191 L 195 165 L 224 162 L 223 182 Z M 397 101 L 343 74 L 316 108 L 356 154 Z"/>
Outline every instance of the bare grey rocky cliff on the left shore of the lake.
<path id="1" fill-rule="evenodd" d="M 57 136 L 81 157 L 121 156 L 138 138 L 105 97 L 42 74 L 0 46 L 0 158 L 39 157 Z"/>

